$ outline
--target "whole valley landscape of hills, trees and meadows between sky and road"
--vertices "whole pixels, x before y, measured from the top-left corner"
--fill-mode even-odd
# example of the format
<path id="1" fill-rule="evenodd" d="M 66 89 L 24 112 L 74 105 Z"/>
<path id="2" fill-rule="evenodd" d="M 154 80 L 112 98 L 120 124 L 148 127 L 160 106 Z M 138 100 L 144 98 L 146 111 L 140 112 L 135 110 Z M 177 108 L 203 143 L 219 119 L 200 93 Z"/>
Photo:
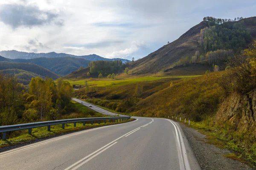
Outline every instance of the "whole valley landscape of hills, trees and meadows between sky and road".
<path id="1" fill-rule="evenodd" d="M 256 166 L 256 17 L 205 17 L 133 61 L 54 52 L 0 55 L 0 118 L 12 118 L 0 125 L 101 116 L 80 108 L 75 97 L 117 114 L 185 117 L 225 143 L 233 159 Z M 20 134 L 9 135 L 16 140 Z"/>

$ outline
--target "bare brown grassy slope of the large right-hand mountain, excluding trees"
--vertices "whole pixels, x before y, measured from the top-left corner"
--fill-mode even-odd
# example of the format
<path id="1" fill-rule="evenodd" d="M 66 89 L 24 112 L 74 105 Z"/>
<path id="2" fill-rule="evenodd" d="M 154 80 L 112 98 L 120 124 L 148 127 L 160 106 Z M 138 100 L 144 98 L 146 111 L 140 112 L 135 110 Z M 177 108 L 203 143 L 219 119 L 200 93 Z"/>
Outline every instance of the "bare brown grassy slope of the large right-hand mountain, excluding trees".
<path id="1" fill-rule="evenodd" d="M 207 54 L 209 49 L 212 49 L 212 46 L 209 49 L 208 48 L 204 49 L 204 46 L 201 46 L 199 43 L 199 40 L 201 38 L 201 29 L 204 29 L 206 27 L 209 27 L 207 21 L 203 21 L 199 23 L 198 25 L 190 28 L 189 31 L 187 31 L 185 34 L 180 36 L 180 38 L 178 38 L 177 40 L 167 45 L 164 45 L 163 47 L 159 48 L 157 51 L 152 52 L 151 54 L 149 54 L 148 56 L 142 59 L 139 59 L 135 62 L 131 62 L 130 69 L 134 71 L 134 74 L 146 74 L 146 73 L 153 74 L 154 72 L 159 72 L 159 71 L 162 72 L 169 68 L 173 68 L 175 65 L 179 65 L 179 60 L 185 57 L 189 58 L 188 60 L 188 63 L 189 63 L 189 61 L 195 55 L 196 51 L 198 51 L 200 55 L 202 54 L 204 56 L 201 58 L 200 56 L 197 56 L 196 62 L 200 63 L 201 59 L 202 60 L 207 59 L 205 55 Z M 221 40 L 222 41 L 221 43 L 223 43 L 223 45 L 221 46 L 221 43 L 220 43 L 220 45 L 217 45 L 216 47 L 213 46 L 214 50 L 217 50 L 217 49 L 227 50 L 227 47 L 229 47 L 228 45 L 230 45 L 233 50 L 233 45 L 234 45 L 233 43 L 236 43 L 236 45 L 238 45 L 237 47 L 235 45 L 236 50 L 238 50 L 239 47 L 241 47 L 242 49 L 243 47 L 245 47 L 243 43 L 248 45 L 252 42 L 251 40 L 256 38 L 256 17 L 246 18 L 243 20 L 239 20 L 237 22 L 227 22 L 222 25 L 218 25 L 218 26 L 216 25 L 216 28 L 217 27 L 221 27 L 221 29 L 226 31 L 225 34 L 228 34 L 230 37 L 229 37 L 229 40 L 225 40 L 225 37 L 223 37 L 224 40 Z M 249 31 L 252 39 L 250 39 L 249 37 L 248 40 L 250 39 L 250 41 L 246 40 L 243 43 L 242 42 L 240 43 L 238 40 L 236 40 L 236 38 L 239 39 L 239 36 L 241 36 L 243 33 L 241 34 L 234 33 L 234 32 L 238 33 L 238 31 L 236 31 L 237 28 L 239 29 L 242 28 Z M 221 37 L 220 32 L 222 31 L 219 31 L 217 33 L 219 37 Z M 236 36 L 236 37 L 233 37 L 233 36 Z M 208 43 L 208 41 L 206 42 Z M 212 42 L 209 42 L 209 43 L 212 43 Z M 211 65 L 212 65 L 212 61 L 210 66 Z"/>

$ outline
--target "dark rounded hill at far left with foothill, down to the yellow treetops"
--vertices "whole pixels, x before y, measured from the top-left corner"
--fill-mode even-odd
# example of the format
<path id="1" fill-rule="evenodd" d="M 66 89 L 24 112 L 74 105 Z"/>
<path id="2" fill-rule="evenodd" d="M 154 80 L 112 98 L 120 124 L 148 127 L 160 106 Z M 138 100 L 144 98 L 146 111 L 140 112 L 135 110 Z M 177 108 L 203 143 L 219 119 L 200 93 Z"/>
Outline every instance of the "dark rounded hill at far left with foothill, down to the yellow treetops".
<path id="1" fill-rule="evenodd" d="M 0 72 L 9 73 L 12 75 L 24 76 L 20 79 L 26 79 L 26 81 L 30 81 L 31 77 L 51 77 L 52 79 L 58 79 L 59 76 L 52 71 L 49 71 L 46 68 L 41 66 L 31 64 L 31 63 L 15 63 L 15 62 L 0 62 Z"/>

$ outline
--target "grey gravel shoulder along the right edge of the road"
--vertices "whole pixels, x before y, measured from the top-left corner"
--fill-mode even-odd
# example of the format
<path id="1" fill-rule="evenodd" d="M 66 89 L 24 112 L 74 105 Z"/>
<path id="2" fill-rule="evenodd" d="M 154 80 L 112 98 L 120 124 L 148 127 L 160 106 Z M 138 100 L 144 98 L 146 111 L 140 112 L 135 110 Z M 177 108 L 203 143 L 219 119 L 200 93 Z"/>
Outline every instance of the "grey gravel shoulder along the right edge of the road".
<path id="1" fill-rule="evenodd" d="M 206 143 L 206 136 L 198 130 L 180 124 L 186 135 L 202 170 L 253 170 L 248 165 L 229 159 L 223 155 L 230 150 L 220 149 L 213 144 Z"/>

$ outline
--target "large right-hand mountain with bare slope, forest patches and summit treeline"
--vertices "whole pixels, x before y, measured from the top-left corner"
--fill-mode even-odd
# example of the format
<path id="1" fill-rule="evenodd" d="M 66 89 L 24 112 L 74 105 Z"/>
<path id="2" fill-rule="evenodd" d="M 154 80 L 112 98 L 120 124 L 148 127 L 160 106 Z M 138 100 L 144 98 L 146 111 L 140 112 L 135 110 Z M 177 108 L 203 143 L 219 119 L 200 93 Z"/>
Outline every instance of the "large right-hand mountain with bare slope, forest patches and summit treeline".
<path id="1" fill-rule="evenodd" d="M 199 69 L 201 65 L 208 64 L 209 68 L 213 65 L 213 71 L 215 65 L 221 68 L 229 57 L 239 54 L 255 38 L 256 17 L 239 17 L 239 21 L 205 17 L 179 39 L 131 62 L 130 68 L 134 74 L 168 73 L 177 65 L 187 67 L 197 63 Z"/>

